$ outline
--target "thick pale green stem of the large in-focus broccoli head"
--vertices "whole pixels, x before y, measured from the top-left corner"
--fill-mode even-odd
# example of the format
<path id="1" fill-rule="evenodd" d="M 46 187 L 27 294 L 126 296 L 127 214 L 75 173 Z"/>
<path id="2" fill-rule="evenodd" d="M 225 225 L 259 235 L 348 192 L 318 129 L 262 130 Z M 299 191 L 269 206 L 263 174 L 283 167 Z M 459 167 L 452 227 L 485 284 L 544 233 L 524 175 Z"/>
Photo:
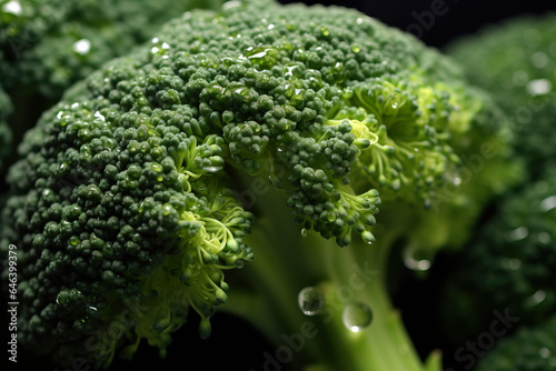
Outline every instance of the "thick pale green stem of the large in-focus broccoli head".
<path id="1" fill-rule="evenodd" d="M 279 364 L 296 365 L 295 370 L 301 369 L 298 364 L 307 367 L 304 370 L 440 369 L 436 355 L 427 367 L 423 364 L 386 289 L 385 267 L 397 233 L 378 233 L 374 245 L 354 239 L 339 248 L 312 231 L 301 233 L 284 198 L 274 190 L 262 193 L 256 204 L 264 212 L 245 238 L 256 258 L 232 278 L 249 288 L 236 291 L 237 283 L 232 284 L 229 302 L 221 307 L 251 322 L 276 344 L 261 361 L 261 370 L 265 362 L 269 362 L 267 369 Z M 325 298 L 317 315 L 305 315 L 298 307 L 297 297 L 305 287 L 316 287 Z M 371 323 L 360 332 L 344 324 L 342 310 L 350 302 L 365 303 L 373 311 Z"/>

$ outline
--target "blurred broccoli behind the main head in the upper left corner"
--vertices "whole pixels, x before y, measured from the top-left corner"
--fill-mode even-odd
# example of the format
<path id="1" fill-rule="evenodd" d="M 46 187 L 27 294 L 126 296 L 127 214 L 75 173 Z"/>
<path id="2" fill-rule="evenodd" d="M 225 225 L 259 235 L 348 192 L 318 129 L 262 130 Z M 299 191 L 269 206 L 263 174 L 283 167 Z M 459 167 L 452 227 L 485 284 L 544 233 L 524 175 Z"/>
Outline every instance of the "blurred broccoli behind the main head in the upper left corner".
<path id="1" fill-rule="evenodd" d="M 0 7 L 0 79 L 10 94 L 16 141 L 63 91 L 129 53 L 160 26 L 222 1 L 13 0 Z M 29 107 L 33 107 L 29 110 Z"/>

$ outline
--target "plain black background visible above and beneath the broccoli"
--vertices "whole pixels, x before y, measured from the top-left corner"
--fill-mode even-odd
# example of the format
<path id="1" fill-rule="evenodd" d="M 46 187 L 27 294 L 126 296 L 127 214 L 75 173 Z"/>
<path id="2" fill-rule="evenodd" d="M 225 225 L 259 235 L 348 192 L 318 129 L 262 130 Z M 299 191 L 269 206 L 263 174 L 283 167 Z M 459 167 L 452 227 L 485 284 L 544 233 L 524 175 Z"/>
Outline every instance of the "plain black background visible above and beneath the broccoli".
<path id="1" fill-rule="evenodd" d="M 281 2 L 292 2 L 281 0 Z M 341 4 L 356 8 L 383 22 L 410 31 L 425 43 L 443 48 L 458 37 L 476 32 L 486 24 L 497 23 L 505 19 L 525 13 L 544 13 L 556 11 L 556 2 L 548 0 L 529 1 L 488 1 L 488 0 L 445 0 L 444 7 L 436 1 L 389 0 L 389 1 L 305 1 L 306 3 Z M 441 14 L 434 17 L 434 22 L 427 18 L 431 4 L 441 9 Z M 419 22 L 420 18 L 420 22 Z M 448 262 L 443 264 L 443 262 Z M 403 269 L 395 263 L 394 269 Z M 446 349 L 443 338 L 435 329 L 435 292 L 443 281 L 443 275 L 449 270 L 449 260 L 440 255 L 429 272 L 428 280 L 415 279 L 410 272 L 401 274 L 396 287 L 395 304 L 401 309 L 408 330 L 417 341 L 418 351 L 425 357 L 433 349 L 444 349 L 446 359 L 453 358 L 453 349 Z M 6 311 L 3 311 L 6 315 Z M 192 313 L 189 323 L 173 337 L 173 343 L 168 349 L 168 357 L 160 360 L 156 349 L 143 345 L 135 355 L 132 362 L 115 361 L 112 370 L 119 369 L 178 369 L 178 370 L 262 370 L 265 351 L 274 352 L 274 347 L 246 322 L 217 313 L 212 318 L 214 331 L 210 339 L 201 341 L 196 335 L 198 318 Z M 2 321 L 7 323 L 7 321 Z M 6 330 L 2 324 L 2 332 Z M 6 333 L 6 332 L 4 332 Z M 423 334 L 427 334 L 424 337 Z M 6 339 L 6 335 L 2 337 Z M 6 342 L 2 341 L 6 345 Z M 6 349 L 6 348 L 3 348 Z M 2 360 L 6 360 L 2 350 Z M 33 359 L 19 350 L 18 364 L 10 363 L 8 370 L 62 370 L 44 359 Z M 449 365 L 449 363 L 448 363 Z M 6 370 L 6 368 L 1 368 Z M 281 370 L 287 370 L 286 368 Z M 338 370 L 339 371 L 339 370 Z M 344 370 L 341 370 L 344 371 Z M 349 370 L 346 370 L 349 371 Z"/>

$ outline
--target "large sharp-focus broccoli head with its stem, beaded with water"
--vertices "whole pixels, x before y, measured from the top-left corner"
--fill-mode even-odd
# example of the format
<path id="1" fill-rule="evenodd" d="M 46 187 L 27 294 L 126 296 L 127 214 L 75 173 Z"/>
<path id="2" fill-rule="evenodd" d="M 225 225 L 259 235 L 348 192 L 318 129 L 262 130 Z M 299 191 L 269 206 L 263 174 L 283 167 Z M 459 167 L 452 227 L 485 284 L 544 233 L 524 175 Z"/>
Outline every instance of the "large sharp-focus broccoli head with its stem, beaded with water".
<path id="1" fill-rule="evenodd" d="M 354 10 L 232 1 L 169 21 L 19 147 L 3 235 L 19 252 L 20 342 L 108 367 L 142 340 L 165 355 L 191 309 L 208 337 L 222 309 L 278 345 L 311 338 L 267 362 L 439 370 L 413 350 L 386 261 L 427 240 L 428 214 L 463 228 L 475 211 L 460 210 L 512 179 L 486 164 L 460 178 L 466 159 L 509 156 L 484 97 Z M 437 203 L 446 186 L 458 192 Z"/>

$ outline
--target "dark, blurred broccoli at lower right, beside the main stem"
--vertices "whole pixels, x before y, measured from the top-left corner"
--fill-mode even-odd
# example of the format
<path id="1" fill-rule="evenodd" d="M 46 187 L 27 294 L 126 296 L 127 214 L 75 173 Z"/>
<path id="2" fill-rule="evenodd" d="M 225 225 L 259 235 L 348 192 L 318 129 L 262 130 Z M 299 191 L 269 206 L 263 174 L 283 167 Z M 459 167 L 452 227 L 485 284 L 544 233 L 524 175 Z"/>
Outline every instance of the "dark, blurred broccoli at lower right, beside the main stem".
<path id="1" fill-rule="evenodd" d="M 458 343 L 487 328 L 493 310 L 507 309 L 520 323 L 539 324 L 556 304 L 556 172 L 549 170 L 497 202 L 459 254 L 440 313 Z"/>

